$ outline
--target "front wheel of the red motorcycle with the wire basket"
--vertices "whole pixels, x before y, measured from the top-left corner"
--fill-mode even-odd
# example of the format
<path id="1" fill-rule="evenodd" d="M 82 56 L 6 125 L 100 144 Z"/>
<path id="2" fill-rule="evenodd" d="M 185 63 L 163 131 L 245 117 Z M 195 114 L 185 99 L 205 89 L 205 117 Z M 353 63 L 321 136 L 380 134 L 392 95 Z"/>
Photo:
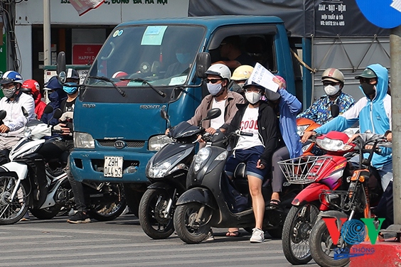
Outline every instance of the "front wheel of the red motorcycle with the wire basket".
<path id="1" fill-rule="evenodd" d="M 299 265 L 311 261 L 309 235 L 318 214 L 319 209 L 314 203 L 292 206 L 289 210 L 282 231 L 283 252 L 289 263 Z"/>

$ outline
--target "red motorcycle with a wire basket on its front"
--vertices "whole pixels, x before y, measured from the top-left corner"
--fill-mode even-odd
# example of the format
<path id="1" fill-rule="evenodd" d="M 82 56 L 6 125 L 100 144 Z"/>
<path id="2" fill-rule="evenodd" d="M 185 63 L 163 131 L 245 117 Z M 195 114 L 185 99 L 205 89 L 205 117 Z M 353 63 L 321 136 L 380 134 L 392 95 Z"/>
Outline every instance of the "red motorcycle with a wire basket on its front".
<path id="1" fill-rule="evenodd" d="M 309 235 L 319 211 L 328 209 L 321 200 L 324 190 L 342 190 L 351 176 L 348 160 L 355 154 L 355 145 L 347 144 L 346 133 L 331 131 L 316 136 L 316 145 L 326 151 L 324 156 L 301 156 L 279 162 L 289 183 L 307 185 L 292 201 L 284 222 L 282 247 L 287 261 L 294 265 L 311 261 Z"/>

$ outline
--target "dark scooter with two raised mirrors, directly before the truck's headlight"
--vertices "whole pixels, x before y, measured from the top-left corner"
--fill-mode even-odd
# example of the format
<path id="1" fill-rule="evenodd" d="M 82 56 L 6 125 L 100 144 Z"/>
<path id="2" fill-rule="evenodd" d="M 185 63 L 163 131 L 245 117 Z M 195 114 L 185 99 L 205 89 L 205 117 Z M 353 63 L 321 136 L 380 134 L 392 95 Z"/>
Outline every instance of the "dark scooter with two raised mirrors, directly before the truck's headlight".
<path id="1" fill-rule="evenodd" d="M 220 116 L 220 109 L 211 109 L 204 120 Z M 161 116 L 170 125 L 169 116 Z M 152 239 L 166 239 L 174 231 L 173 214 L 178 197 L 186 190 L 186 175 L 191 165 L 198 136 L 205 129 L 183 121 L 169 131 L 173 138 L 149 160 L 146 177 L 151 182 L 139 203 L 139 222 Z"/>

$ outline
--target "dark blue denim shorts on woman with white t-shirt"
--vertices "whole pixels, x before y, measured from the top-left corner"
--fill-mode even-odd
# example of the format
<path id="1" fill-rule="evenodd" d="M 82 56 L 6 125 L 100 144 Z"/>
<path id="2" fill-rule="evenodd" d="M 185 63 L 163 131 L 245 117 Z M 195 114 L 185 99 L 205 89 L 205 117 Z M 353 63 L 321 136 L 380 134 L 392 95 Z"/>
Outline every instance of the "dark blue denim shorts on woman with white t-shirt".
<path id="1" fill-rule="evenodd" d="M 247 175 L 255 176 L 261 180 L 264 180 L 264 176 L 267 174 L 267 168 L 263 170 L 256 168 L 257 160 L 260 159 L 264 151 L 263 146 L 254 146 L 247 149 L 237 149 L 234 154 L 228 158 L 225 163 L 225 173 L 228 176 L 232 176 L 235 168 L 239 163 L 245 163 L 247 165 Z"/>

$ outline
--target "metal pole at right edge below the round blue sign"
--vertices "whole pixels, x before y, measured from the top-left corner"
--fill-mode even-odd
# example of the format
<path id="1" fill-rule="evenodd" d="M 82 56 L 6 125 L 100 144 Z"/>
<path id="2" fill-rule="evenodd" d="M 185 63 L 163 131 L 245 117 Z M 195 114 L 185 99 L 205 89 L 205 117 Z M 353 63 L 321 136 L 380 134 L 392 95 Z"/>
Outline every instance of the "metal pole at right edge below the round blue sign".
<path id="1" fill-rule="evenodd" d="M 390 33 L 394 224 L 401 225 L 401 26 Z"/>

